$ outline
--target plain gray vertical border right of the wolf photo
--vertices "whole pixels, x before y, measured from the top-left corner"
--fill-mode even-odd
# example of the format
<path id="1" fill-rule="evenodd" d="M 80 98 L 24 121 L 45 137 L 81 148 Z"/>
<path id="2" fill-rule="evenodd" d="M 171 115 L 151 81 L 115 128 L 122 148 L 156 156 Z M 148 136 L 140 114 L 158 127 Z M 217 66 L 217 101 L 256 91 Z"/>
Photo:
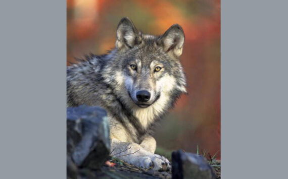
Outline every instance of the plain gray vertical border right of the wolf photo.
<path id="1" fill-rule="evenodd" d="M 287 177 L 287 7 L 221 1 L 224 179 Z"/>

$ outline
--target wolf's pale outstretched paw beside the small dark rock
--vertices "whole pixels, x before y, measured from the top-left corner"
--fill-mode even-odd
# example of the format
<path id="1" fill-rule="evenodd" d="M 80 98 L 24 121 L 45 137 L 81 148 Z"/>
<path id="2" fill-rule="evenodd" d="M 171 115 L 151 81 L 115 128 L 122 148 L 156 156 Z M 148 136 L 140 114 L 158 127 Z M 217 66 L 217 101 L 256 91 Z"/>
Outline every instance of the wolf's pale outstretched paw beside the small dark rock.
<path id="1" fill-rule="evenodd" d="M 140 167 L 149 168 L 151 166 L 153 170 L 157 171 L 169 171 L 171 169 L 169 160 L 161 155 L 153 154 L 140 159 Z"/>

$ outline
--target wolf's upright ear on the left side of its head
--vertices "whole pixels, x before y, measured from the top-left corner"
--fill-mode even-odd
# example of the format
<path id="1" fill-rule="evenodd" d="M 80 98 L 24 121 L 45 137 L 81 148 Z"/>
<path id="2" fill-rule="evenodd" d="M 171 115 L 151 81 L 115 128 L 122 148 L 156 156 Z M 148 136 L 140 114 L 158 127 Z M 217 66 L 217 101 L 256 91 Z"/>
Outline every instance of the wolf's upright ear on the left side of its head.
<path id="1" fill-rule="evenodd" d="M 125 17 L 121 19 L 117 27 L 115 46 L 118 50 L 127 50 L 141 42 L 141 37 L 133 22 Z"/>

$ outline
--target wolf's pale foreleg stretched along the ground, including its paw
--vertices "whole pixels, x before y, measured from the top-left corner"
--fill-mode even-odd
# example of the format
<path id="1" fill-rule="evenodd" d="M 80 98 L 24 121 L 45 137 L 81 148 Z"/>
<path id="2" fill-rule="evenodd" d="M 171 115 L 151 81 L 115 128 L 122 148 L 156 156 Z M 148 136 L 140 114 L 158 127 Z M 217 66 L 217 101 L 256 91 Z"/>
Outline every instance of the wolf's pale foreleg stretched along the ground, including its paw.
<path id="1" fill-rule="evenodd" d="M 149 168 L 152 166 L 154 170 L 158 171 L 168 171 L 171 168 L 168 159 L 153 154 L 136 143 L 120 142 L 112 139 L 111 155 L 142 168 Z"/>

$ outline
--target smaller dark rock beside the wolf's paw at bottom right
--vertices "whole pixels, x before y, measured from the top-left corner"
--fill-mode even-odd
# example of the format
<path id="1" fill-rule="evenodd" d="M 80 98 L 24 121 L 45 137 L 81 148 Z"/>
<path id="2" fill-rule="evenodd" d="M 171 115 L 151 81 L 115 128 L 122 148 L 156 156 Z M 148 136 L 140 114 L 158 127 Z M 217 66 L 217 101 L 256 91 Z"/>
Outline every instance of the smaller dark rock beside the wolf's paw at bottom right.
<path id="1" fill-rule="evenodd" d="M 177 150 L 172 153 L 172 178 L 212 179 L 212 167 L 203 156 Z"/>

